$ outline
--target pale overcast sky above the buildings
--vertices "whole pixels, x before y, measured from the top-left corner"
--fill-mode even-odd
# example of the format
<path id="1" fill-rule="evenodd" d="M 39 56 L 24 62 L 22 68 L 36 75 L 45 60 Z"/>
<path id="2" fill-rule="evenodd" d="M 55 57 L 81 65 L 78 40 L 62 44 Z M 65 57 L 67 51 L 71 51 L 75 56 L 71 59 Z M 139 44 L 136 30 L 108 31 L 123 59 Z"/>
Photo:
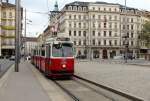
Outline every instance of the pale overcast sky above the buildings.
<path id="1" fill-rule="evenodd" d="M 32 23 L 27 25 L 27 36 L 38 36 L 48 25 L 48 11 L 54 9 L 56 0 L 20 0 L 23 8 L 27 9 L 27 19 Z M 104 1 L 124 5 L 125 0 L 57 0 L 59 9 L 73 1 Z M 14 3 L 15 0 L 9 0 Z M 127 0 L 127 6 L 150 10 L 150 0 Z M 40 12 L 40 13 L 38 13 Z M 28 21 L 27 21 L 28 22 Z"/>

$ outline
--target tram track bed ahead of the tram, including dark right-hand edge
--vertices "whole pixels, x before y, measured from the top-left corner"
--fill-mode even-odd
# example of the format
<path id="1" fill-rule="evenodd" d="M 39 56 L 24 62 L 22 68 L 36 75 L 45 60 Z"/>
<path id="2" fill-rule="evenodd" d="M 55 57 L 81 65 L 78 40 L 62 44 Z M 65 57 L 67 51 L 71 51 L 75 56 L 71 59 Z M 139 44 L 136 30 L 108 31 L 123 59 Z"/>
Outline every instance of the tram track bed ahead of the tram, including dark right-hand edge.
<path id="1" fill-rule="evenodd" d="M 54 83 L 74 101 L 144 101 L 76 75 L 72 80 L 54 80 Z"/>

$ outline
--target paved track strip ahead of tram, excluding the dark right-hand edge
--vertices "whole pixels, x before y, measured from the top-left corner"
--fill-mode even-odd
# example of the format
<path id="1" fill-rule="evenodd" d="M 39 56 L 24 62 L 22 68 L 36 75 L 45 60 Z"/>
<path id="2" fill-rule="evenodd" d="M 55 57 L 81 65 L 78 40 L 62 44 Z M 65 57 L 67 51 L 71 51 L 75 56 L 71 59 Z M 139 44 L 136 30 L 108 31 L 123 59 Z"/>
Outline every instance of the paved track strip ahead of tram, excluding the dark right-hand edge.
<path id="1" fill-rule="evenodd" d="M 77 79 L 67 81 L 54 80 L 54 83 L 74 101 L 131 101 L 126 99 L 118 100 L 110 97 L 107 94 L 78 81 Z"/>

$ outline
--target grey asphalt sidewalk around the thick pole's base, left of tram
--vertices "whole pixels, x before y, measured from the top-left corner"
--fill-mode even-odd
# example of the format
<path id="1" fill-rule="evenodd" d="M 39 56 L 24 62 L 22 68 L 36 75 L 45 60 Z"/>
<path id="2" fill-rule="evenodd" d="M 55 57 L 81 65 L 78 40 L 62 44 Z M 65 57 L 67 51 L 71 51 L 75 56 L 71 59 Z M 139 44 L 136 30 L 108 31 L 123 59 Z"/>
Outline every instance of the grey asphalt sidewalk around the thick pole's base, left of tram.
<path id="1" fill-rule="evenodd" d="M 19 72 L 14 72 L 14 67 L 11 67 L 6 82 L 0 87 L 0 101 L 51 101 L 30 65 L 21 62 Z"/>

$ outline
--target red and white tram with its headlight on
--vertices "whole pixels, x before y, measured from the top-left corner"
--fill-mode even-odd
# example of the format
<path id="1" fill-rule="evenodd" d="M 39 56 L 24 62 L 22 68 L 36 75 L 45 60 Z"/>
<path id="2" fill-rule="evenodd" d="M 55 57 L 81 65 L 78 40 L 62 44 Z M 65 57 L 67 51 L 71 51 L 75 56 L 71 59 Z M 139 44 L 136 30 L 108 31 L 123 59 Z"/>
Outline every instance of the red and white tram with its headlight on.
<path id="1" fill-rule="evenodd" d="M 33 50 L 31 62 L 47 76 L 73 76 L 73 42 L 70 38 L 48 38 Z"/>

